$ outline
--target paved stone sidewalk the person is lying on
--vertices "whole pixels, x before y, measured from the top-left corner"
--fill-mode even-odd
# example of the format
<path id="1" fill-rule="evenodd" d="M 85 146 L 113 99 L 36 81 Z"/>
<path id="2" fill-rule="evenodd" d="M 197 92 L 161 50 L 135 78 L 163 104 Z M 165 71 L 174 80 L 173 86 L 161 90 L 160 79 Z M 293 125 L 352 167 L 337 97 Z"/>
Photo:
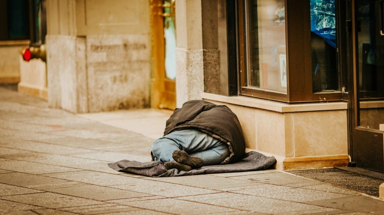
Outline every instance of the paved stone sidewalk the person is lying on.
<path id="1" fill-rule="evenodd" d="M 149 178 L 171 112 L 71 114 L 0 87 L 0 215 L 365 215 L 384 201 L 278 170 Z"/>

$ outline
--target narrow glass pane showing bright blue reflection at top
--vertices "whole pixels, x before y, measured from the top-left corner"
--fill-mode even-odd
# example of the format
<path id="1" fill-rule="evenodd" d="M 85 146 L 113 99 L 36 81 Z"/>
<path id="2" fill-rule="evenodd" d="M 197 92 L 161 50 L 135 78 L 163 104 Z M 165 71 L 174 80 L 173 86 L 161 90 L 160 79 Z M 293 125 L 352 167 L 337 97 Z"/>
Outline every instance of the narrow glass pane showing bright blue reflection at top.
<path id="1" fill-rule="evenodd" d="M 334 0 L 310 0 L 312 90 L 338 91 Z"/>

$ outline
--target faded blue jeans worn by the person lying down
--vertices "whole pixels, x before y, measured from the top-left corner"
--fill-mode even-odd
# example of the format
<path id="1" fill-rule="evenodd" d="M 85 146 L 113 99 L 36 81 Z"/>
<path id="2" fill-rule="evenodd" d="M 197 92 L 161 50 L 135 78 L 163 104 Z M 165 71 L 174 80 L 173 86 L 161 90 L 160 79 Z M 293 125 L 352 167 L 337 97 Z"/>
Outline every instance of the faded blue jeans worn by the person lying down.
<path id="1" fill-rule="evenodd" d="M 155 161 L 174 161 L 172 153 L 175 150 L 183 150 L 190 156 L 201 158 L 204 165 L 219 164 L 229 156 L 226 143 L 194 129 L 174 131 L 152 144 Z"/>

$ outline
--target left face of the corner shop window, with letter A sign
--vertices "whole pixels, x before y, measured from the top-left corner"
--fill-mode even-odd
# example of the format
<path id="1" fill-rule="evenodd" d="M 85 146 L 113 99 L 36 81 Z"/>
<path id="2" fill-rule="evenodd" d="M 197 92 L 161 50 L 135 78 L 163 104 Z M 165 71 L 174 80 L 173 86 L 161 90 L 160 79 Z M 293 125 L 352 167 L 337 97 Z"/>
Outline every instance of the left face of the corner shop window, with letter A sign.
<path id="1" fill-rule="evenodd" d="M 241 94 L 281 98 L 287 92 L 284 0 L 239 1 Z"/>

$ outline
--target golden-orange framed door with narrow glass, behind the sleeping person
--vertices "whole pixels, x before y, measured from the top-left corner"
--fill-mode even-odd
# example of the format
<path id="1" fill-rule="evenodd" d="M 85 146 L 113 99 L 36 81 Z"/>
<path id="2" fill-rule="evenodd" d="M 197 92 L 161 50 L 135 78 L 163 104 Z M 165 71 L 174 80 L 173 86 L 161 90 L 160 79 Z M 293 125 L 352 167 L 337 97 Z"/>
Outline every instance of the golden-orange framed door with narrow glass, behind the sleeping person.
<path id="1" fill-rule="evenodd" d="M 175 0 L 151 0 L 151 107 L 176 107 Z"/>

